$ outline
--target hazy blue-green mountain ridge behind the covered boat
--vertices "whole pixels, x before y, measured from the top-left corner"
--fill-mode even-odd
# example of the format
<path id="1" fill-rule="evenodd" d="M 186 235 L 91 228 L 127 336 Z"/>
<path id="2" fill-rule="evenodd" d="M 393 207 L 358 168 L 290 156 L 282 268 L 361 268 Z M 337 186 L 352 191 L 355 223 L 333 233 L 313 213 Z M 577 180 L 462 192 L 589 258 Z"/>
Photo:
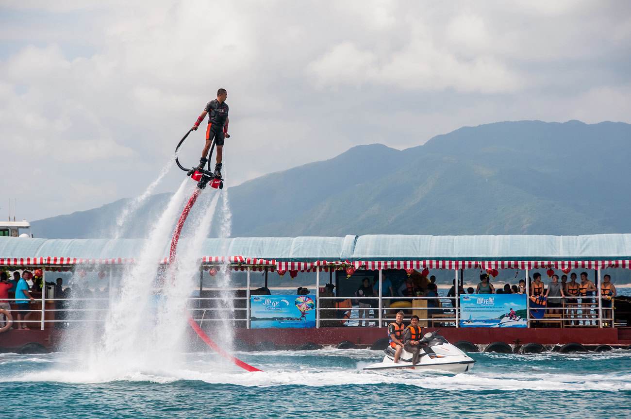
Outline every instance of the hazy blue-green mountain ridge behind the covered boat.
<path id="1" fill-rule="evenodd" d="M 631 232 L 631 125 L 463 127 L 399 151 L 351 148 L 230 188 L 234 236 Z M 157 213 L 168 196 L 155 196 Z M 107 237 L 123 201 L 33 222 L 39 237 Z M 145 213 L 143 211 L 141 213 Z M 146 226 L 134 223 L 131 235 Z M 98 229 L 91 226 L 99 226 Z M 88 227 L 86 227 L 88 226 Z M 91 236 L 90 236 L 91 235 Z"/>

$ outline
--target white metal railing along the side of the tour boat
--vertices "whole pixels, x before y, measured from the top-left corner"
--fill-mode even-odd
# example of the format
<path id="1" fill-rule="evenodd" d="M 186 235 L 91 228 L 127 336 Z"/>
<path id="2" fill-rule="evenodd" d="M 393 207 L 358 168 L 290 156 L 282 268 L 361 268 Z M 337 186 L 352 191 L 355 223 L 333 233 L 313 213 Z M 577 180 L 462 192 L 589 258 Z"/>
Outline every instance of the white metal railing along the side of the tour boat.
<path id="1" fill-rule="evenodd" d="M 421 322 L 428 322 L 428 325 L 432 325 L 439 323 L 442 327 L 455 327 L 459 328 L 459 322 L 461 319 L 461 307 L 459 307 L 460 294 L 459 294 L 459 286 L 455 287 L 455 294 L 452 297 L 427 297 L 427 296 L 409 296 L 409 297 L 389 297 L 384 296 L 381 293 L 382 290 L 382 271 L 379 270 L 379 295 L 369 296 L 369 297 L 358 297 L 358 296 L 321 296 L 320 295 L 320 272 L 321 269 L 318 268 L 316 271 L 316 287 L 315 287 L 315 327 L 320 328 L 322 322 L 338 322 L 338 326 L 346 325 L 351 326 L 351 322 L 354 324 L 357 321 L 357 326 L 370 326 L 370 323 L 374 323 L 376 327 L 384 327 L 386 326 L 388 321 L 394 319 L 394 314 L 392 312 L 398 312 L 399 310 L 403 310 L 406 313 L 406 318 L 409 318 L 409 315 L 413 312 L 417 314 L 425 314 L 425 316 L 421 317 L 419 320 Z M 216 321 L 232 321 L 232 322 L 244 322 L 246 328 L 250 328 L 251 319 L 250 319 L 250 310 L 251 310 L 251 287 L 250 287 L 250 274 L 251 269 L 247 269 L 247 288 L 245 288 L 245 297 L 189 297 L 188 302 L 190 304 L 197 303 L 198 307 L 187 307 L 189 313 L 193 317 L 195 321 L 198 321 L 199 324 L 203 324 L 204 322 L 216 322 Z M 458 281 L 459 271 L 456 270 L 456 284 Z M 600 271 L 598 271 L 598 283 L 600 284 Z M 550 324 L 550 323 L 558 323 L 560 327 L 575 327 L 579 326 L 579 323 L 582 322 L 582 326 L 598 326 L 599 328 L 603 327 L 613 327 L 614 317 L 613 313 L 615 307 L 613 307 L 613 299 L 611 299 L 611 307 L 603 307 L 603 297 L 601 295 L 601 286 L 597 287 L 597 295 L 594 296 L 565 296 L 565 297 L 552 297 L 558 298 L 562 302 L 561 307 L 537 307 L 537 310 L 543 310 L 546 312 L 546 316 L 543 316 L 541 319 L 534 319 L 531 316 L 531 307 L 529 295 L 529 281 L 528 281 L 528 269 L 526 269 L 526 327 L 530 328 L 531 326 L 539 327 L 542 324 Z M 48 286 L 47 286 L 48 287 Z M 78 319 L 78 316 L 68 316 L 68 314 L 78 314 L 78 313 L 90 313 L 90 312 L 107 312 L 109 309 L 110 298 L 100 298 L 100 297 L 78 297 L 78 298 L 45 298 L 46 292 L 42 292 L 42 297 L 37 298 L 36 300 L 26 300 L 25 298 L 7 298 L 6 300 L 11 302 L 39 302 L 40 307 L 37 307 L 33 310 L 23 310 L 13 307 L 9 310 L 12 315 L 16 314 L 27 314 L 38 312 L 40 314 L 40 319 L 38 320 L 30 320 L 30 319 L 18 319 L 18 316 L 12 316 L 13 322 L 19 323 L 38 323 L 40 324 L 40 329 L 45 329 L 46 323 L 75 323 L 75 322 L 104 322 L 105 316 L 100 318 L 82 318 Z M 471 294 L 467 294 L 471 295 Z M 475 295 L 489 295 L 489 294 L 475 294 Z M 110 293 L 110 297 L 112 294 Z M 589 303 L 583 302 L 584 299 L 589 299 Z M 201 307 L 202 302 L 215 302 L 216 300 L 232 300 L 232 307 Z M 351 300 L 350 306 L 348 305 L 348 300 Z M 377 302 L 376 305 L 370 305 L 369 307 L 362 306 L 360 304 L 353 304 L 352 302 L 357 301 L 358 303 L 362 301 L 370 301 Z M 392 301 L 408 301 L 410 302 L 409 307 L 390 307 Z M 575 300 L 575 303 L 571 301 Z M 346 302 L 345 305 L 340 306 L 336 305 L 339 302 Z M 415 305 L 415 302 L 420 302 L 420 304 Z M 425 301 L 425 305 L 422 302 Z M 436 301 L 438 307 L 429 307 L 430 302 Z M 55 308 L 46 308 L 47 304 L 50 303 L 55 304 Z M 86 308 L 82 306 L 81 303 L 91 303 L 93 307 Z M 105 304 L 103 304 L 105 302 Z M 245 302 L 245 307 L 234 307 L 235 302 Z M 333 302 L 332 305 L 334 307 L 322 307 L 322 304 L 326 304 L 327 302 Z M 389 302 L 389 304 L 384 304 Z M 440 306 L 439 302 L 449 302 L 449 306 Z M 60 304 L 57 304 L 60 303 Z M 98 305 L 98 307 L 97 307 Z M 423 311 L 424 310 L 424 311 Z M 209 316 L 212 313 L 217 312 L 232 312 L 232 316 Z M 52 312 L 54 314 L 53 319 L 46 319 L 46 313 Z M 329 317 L 326 315 L 328 312 L 343 312 L 342 317 Z M 370 317 L 370 312 L 372 312 L 374 317 Z M 550 312 L 548 314 L 548 312 Z M 558 313 L 557 313 L 558 312 Z M 243 316 L 236 316 L 236 314 L 242 313 Z M 323 317 L 322 314 L 325 314 Z M 59 316 L 57 316 L 59 314 Z M 357 317 L 354 317 L 357 314 Z M 604 315 L 604 316 L 603 316 Z M 229 317 L 229 318 L 227 318 Z M 589 322 L 589 325 L 587 324 Z M 3 316 L 0 316 L 0 327 L 4 324 Z M 451 326 L 453 325 L 453 326 Z M 363 327 L 365 327 L 363 326 Z"/>

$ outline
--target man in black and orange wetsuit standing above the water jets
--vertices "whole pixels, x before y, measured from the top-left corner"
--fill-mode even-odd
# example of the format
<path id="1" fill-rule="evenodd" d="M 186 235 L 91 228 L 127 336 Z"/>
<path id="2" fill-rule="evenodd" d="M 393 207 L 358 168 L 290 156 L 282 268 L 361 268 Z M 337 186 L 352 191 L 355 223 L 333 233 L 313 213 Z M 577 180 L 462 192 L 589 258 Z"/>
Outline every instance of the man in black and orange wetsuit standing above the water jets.
<path id="1" fill-rule="evenodd" d="M 208 114 L 208 128 L 206 129 L 206 145 L 201 153 L 199 159 L 199 168 L 204 168 L 206 162 L 208 162 L 208 151 L 215 139 L 215 145 L 217 146 L 217 164 L 215 165 L 215 176 L 221 177 L 221 158 L 223 157 L 223 140 L 224 138 L 230 138 L 228 134 L 228 103 L 226 98 L 228 92 L 225 89 L 217 90 L 217 98 L 206 103 L 204 112 L 199 115 L 197 122 L 192 127 L 193 131 L 196 131 L 204 121 L 204 117 Z"/>

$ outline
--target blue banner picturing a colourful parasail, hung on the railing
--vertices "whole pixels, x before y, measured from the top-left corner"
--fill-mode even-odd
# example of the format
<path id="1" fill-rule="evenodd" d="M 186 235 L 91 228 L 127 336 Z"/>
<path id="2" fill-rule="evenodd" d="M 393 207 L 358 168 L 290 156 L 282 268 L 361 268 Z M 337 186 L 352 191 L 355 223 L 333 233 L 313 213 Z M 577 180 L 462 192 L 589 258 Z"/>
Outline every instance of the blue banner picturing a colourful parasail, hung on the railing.
<path id="1" fill-rule="evenodd" d="M 250 327 L 315 328 L 315 295 L 252 295 Z"/>

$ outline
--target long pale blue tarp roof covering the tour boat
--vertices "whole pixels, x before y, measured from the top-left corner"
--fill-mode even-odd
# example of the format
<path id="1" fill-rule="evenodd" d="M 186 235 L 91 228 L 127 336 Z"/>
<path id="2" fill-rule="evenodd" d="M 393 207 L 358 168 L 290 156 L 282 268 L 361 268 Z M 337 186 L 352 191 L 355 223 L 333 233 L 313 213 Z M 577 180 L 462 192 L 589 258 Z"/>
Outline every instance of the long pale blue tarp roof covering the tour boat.
<path id="1" fill-rule="evenodd" d="M 138 257 L 141 239 L 45 240 L 0 237 L 0 258 Z M 165 252 L 167 251 L 165 244 Z M 165 257 L 167 254 L 165 253 Z M 286 262 L 403 260 L 622 260 L 631 259 L 631 234 L 347 235 L 346 237 L 236 237 L 206 239 L 199 257 L 243 256 Z"/>

